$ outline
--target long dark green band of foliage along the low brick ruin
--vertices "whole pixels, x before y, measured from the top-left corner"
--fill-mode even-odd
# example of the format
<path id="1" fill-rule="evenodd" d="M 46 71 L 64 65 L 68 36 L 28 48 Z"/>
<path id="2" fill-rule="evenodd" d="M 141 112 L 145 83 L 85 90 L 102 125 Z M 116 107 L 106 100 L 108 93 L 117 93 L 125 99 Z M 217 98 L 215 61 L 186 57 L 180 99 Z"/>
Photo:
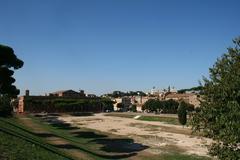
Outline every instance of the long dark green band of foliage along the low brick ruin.
<path id="1" fill-rule="evenodd" d="M 113 101 L 101 99 L 65 99 L 26 97 L 25 110 L 29 112 L 101 112 L 113 110 Z"/>

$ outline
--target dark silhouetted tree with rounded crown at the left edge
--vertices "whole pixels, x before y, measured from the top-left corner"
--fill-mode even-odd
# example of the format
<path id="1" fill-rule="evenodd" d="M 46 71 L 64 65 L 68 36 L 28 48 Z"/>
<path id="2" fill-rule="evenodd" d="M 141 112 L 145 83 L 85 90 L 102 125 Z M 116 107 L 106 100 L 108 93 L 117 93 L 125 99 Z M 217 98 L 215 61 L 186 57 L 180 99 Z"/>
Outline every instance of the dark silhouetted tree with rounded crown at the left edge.
<path id="1" fill-rule="evenodd" d="M 11 113 L 10 100 L 19 94 L 13 85 L 13 70 L 22 66 L 23 61 L 17 58 L 11 47 L 0 45 L 0 115 Z"/>

